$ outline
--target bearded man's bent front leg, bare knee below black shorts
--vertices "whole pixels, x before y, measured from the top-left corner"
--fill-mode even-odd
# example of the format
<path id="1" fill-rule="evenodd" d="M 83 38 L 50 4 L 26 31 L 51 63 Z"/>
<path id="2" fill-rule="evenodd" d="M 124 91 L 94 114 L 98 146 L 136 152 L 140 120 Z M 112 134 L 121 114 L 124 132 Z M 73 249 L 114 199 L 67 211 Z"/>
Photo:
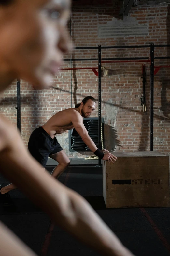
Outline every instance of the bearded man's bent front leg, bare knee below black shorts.
<path id="1" fill-rule="evenodd" d="M 51 175 L 58 179 L 58 177 L 65 171 L 65 169 L 70 165 L 70 159 L 65 154 L 64 150 L 52 154 L 49 156 L 50 158 L 54 159 L 58 162 L 58 165 L 54 168 Z"/>

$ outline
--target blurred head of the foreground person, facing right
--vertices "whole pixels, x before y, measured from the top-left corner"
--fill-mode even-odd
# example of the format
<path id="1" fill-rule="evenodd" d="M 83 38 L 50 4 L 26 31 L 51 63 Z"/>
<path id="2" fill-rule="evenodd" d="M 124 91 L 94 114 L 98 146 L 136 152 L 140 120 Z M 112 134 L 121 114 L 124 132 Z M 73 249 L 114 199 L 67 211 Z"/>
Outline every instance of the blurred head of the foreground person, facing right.
<path id="1" fill-rule="evenodd" d="M 49 86 L 69 50 L 70 0 L 0 0 L 0 75 Z M 8 82 L 7 81 L 7 82 Z M 1 86 L 1 85 L 0 85 Z M 2 89 L 2 88 L 1 88 Z"/>

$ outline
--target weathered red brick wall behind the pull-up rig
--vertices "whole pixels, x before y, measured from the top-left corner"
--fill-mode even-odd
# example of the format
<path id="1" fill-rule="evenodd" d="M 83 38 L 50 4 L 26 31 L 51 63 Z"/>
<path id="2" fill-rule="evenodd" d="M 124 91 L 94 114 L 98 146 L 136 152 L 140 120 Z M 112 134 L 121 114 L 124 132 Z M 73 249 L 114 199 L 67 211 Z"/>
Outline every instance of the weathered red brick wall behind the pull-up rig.
<path id="1" fill-rule="evenodd" d="M 123 20 L 120 8 L 73 9 L 68 30 L 75 46 L 128 46 L 170 44 L 170 5 L 132 7 Z M 133 27 L 135 27 L 133 29 Z M 71 31 L 70 31 L 71 29 Z M 70 33 L 71 32 L 71 33 Z M 121 32 L 121 33 L 120 33 Z M 170 48 L 155 48 L 155 57 L 170 56 Z M 102 49 L 102 58 L 150 56 L 150 48 Z M 64 56 L 70 58 L 70 54 Z M 72 58 L 98 58 L 98 51 L 75 50 Z M 146 112 L 143 94 L 142 64 L 146 64 Z M 168 59 L 156 59 L 155 65 L 170 65 Z M 97 67 L 97 61 L 65 61 L 63 68 Z M 109 75 L 102 77 L 102 117 L 105 122 L 105 148 L 113 151 L 150 149 L 150 64 L 105 63 Z M 31 132 L 54 113 L 93 96 L 98 99 L 98 77 L 89 70 L 60 71 L 51 78 L 53 88 L 33 91 L 21 80 L 21 137 L 27 145 Z M 154 76 L 154 150 L 169 154 L 170 143 L 170 68 L 161 68 Z M 17 126 L 16 81 L 4 92 L 1 112 Z M 98 116 L 98 107 L 93 117 Z M 68 132 L 57 139 L 69 157 L 92 154 L 69 152 Z"/>

